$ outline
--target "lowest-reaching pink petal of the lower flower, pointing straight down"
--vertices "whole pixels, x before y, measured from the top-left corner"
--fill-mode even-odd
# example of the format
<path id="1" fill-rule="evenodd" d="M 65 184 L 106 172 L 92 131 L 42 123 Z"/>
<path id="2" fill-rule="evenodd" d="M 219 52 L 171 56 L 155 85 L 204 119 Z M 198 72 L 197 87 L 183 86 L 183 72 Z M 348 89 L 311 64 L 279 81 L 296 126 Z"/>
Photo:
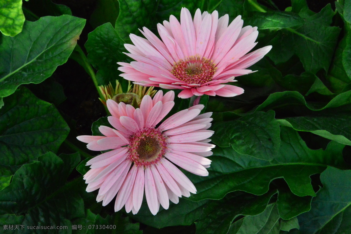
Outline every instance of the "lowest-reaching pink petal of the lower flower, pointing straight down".
<path id="1" fill-rule="evenodd" d="M 157 192 L 150 167 L 145 168 L 145 197 L 147 205 L 153 215 L 157 214 Z"/>

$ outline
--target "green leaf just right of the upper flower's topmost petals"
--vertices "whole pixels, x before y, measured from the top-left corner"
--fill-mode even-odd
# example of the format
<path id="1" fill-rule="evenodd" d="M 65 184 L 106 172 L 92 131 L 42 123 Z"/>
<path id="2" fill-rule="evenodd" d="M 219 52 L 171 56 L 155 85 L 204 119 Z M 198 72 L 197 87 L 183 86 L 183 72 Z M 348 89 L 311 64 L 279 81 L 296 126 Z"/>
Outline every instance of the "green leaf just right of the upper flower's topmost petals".
<path id="1" fill-rule="evenodd" d="M 286 11 L 255 12 L 254 17 L 245 20 L 246 25 L 257 26 L 260 29 L 279 30 L 294 26 L 302 26 L 304 19 L 298 14 Z"/>

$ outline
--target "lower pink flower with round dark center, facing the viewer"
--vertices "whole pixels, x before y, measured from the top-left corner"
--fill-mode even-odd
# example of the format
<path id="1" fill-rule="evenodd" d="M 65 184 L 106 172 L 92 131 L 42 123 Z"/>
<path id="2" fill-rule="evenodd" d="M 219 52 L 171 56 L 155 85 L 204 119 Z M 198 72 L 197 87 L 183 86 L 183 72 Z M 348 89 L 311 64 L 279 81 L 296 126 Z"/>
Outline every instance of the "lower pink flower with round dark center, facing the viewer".
<path id="1" fill-rule="evenodd" d="M 94 151 L 112 149 L 89 160 L 90 170 L 84 175 L 87 192 L 99 189 L 97 201 L 106 206 L 117 194 L 114 209 L 123 206 L 136 214 L 143 201 L 157 214 L 160 204 L 168 209 L 169 200 L 196 193 L 193 183 L 174 165 L 206 176 L 214 145 L 208 143 L 213 131 L 212 113 L 200 114 L 203 105 L 180 111 L 159 125 L 174 106 L 174 92 L 158 91 L 153 99 L 144 96 L 140 108 L 107 100 L 112 114 L 108 121 L 114 128 L 100 126 L 105 136 L 78 136 Z M 173 163 L 174 164 L 173 164 Z"/>

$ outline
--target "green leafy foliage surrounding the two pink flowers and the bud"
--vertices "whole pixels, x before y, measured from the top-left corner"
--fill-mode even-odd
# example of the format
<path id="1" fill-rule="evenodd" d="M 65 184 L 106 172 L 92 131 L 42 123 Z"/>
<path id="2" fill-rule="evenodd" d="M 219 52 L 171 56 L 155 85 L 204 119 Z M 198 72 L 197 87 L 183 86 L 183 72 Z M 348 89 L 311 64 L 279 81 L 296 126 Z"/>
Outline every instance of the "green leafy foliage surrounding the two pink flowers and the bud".
<path id="1" fill-rule="evenodd" d="M 126 85 L 116 62 L 130 61 L 122 54 L 128 35 L 143 26 L 156 32 L 181 7 L 240 14 L 258 26 L 258 46 L 273 48 L 251 67 L 258 72 L 238 77 L 244 94 L 201 99 L 214 112 L 217 147 L 209 176 L 186 173 L 198 193 L 156 216 L 146 203 L 137 215 L 114 213 L 85 192 L 81 174 L 97 152 L 75 136 L 99 134 L 106 122 L 95 87 Z M 0 229 L 351 233 L 350 23 L 351 0 L 1 1 Z M 189 105 L 176 102 L 174 112 Z M 88 229 L 110 224 L 117 229 Z"/>

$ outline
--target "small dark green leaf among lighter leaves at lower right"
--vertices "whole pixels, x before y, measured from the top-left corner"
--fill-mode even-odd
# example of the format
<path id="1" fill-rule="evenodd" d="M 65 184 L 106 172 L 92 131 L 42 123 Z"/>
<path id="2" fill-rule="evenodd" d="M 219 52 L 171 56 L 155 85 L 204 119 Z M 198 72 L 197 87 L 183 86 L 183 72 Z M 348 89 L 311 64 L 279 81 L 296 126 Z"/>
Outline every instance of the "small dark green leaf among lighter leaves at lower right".
<path id="1" fill-rule="evenodd" d="M 278 190 L 277 208 L 282 219 L 290 220 L 311 209 L 312 196 L 297 196 L 289 189 Z"/>

